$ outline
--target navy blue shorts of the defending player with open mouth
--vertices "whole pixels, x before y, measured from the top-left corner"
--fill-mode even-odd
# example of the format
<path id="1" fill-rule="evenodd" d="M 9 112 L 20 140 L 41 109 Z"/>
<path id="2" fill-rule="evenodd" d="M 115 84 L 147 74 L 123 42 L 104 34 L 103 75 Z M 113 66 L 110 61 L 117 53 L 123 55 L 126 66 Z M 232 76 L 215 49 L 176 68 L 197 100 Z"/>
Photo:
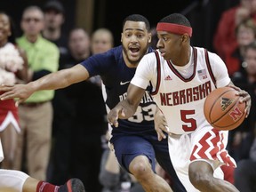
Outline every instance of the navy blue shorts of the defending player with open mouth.
<path id="1" fill-rule="evenodd" d="M 168 140 L 157 140 L 155 131 L 143 135 L 116 133 L 115 136 L 111 138 L 110 142 L 115 148 L 118 163 L 124 167 L 127 172 L 129 172 L 129 164 L 131 164 L 133 158 L 141 155 L 147 156 L 154 172 L 157 160 L 157 163 L 170 175 L 173 191 L 186 191 L 172 166 Z"/>

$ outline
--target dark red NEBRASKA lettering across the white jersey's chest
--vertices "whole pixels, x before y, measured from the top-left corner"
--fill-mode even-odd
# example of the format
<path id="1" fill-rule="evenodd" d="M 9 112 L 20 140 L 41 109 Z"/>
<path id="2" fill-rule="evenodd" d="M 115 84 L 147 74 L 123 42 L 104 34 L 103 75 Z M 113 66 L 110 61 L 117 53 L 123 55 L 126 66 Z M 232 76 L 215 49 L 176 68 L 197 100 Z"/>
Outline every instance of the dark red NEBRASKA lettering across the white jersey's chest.
<path id="1" fill-rule="evenodd" d="M 159 92 L 162 106 L 176 106 L 204 99 L 212 92 L 211 82 L 208 81 L 193 88 L 187 88 L 178 92 Z"/>

